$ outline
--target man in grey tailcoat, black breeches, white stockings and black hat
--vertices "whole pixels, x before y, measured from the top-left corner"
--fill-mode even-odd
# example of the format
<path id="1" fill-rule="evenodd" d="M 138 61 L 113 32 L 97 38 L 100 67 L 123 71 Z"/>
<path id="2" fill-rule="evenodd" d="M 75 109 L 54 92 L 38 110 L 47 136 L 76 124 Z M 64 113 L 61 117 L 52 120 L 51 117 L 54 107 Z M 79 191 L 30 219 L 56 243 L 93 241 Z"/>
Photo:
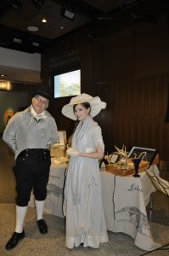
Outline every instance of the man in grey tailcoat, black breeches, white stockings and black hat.
<path id="1" fill-rule="evenodd" d="M 3 133 L 4 142 L 15 154 L 14 177 L 17 192 L 16 226 L 13 236 L 6 244 L 7 250 L 16 247 L 25 236 L 24 219 L 32 189 L 35 195 L 38 229 L 42 234 L 48 232 L 42 212 L 51 164 L 49 149 L 58 137 L 55 120 L 46 110 L 49 98 L 48 90 L 37 90 L 32 97 L 31 106 L 15 113 Z"/>

